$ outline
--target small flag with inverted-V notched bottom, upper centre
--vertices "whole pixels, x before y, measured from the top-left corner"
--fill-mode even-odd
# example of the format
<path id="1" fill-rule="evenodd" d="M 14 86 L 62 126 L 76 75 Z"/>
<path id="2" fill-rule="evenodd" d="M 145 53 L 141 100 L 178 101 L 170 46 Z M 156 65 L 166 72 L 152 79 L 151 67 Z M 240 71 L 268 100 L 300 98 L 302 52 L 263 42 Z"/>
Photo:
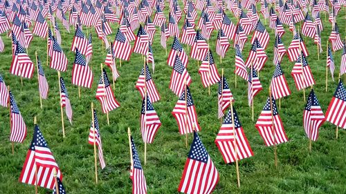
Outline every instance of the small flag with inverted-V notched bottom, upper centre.
<path id="1" fill-rule="evenodd" d="M 168 55 L 167 59 L 168 66 L 174 66 L 176 62 L 176 56 L 179 57 L 181 63 L 186 68 L 188 66 L 188 55 L 186 55 L 183 46 L 179 42 L 179 39 L 177 37 L 174 37 L 172 49 L 170 50 L 170 55 Z"/>

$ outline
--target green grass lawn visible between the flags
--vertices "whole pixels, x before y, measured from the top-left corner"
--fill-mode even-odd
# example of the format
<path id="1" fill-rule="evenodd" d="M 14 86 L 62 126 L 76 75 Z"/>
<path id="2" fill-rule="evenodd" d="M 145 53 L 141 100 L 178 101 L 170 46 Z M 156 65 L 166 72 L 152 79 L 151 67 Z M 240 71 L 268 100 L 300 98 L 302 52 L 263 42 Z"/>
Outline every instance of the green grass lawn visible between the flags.
<path id="1" fill-rule="evenodd" d="M 165 10 L 165 13 L 167 14 L 167 10 Z M 229 10 L 227 13 L 230 15 Z M 346 36 L 344 14 L 345 10 L 340 10 L 337 19 L 341 37 Z M 260 17 L 262 18 L 262 15 Z M 236 22 L 235 17 L 231 16 L 230 18 L 233 20 L 233 23 Z M 330 74 L 328 73 L 329 88 L 326 93 L 326 44 L 331 32 L 331 23 L 324 19 L 324 14 L 322 14 L 322 21 L 324 23 L 324 31 L 322 32 L 323 52 L 320 55 L 319 61 L 313 39 L 307 38 L 304 40 L 310 54 L 307 57 L 307 61 L 316 80 L 314 89 L 325 113 L 337 86 L 337 81 L 331 81 Z M 179 28 L 181 28 L 182 23 L 183 19 L 179 23 Z M 298 26 L 300 26 L 299 23 Z M 60 23 L 60 29 L 62 28 L 63 26 Z M 113 41 L 117 26 L 113 25 L 112 28 L 113 34 L 109 38 Z M 255 120 L 260 115 L 266 97 L 268 97 L 268 86 L 275 69 L 271 62 L 273 60 L 274 32 L 268 28 L 268 21 L 266 28 L 270 32 L 271 40 L 266 49 L 268 61 L 260 72 L 260 80 L 264 90 L 255 97 Z M 284 34 L 283 41 L 287 48 L 291 42 L 292 33 L 287 26 L 285 29 L 286 33 Z M 67 193 L 131 193 L 127 127 L 131 128 L 136 142 L 147 180 L 148 193 L 177 193 L 190 148 L 185 148 L 185 136 L 179 135 L 178 126 L 171 114 L 178 97 L 168 87 L 172 68 L 167 66 L 167 55 L 165 55 L 165 49 L 161 47 L 159 31 L 156 31 L 153 43 L 156 64 L 153 79 L 158 93 L 161 95 L 161 100 L 154 104 L 154 108 L 161 119 L 162 126 L 158 130 L 154 143 L 147 146 L 147 165 L 145 166 L 144 144 L 140 135 L 142 100 L 138 90 L 135 88 L 136 80 L 143 67 L 141 56 L 132 54 L 130 61 L 122 61 L 122 67 L 118 66 L 120 77 L 116 81 L 114 93 L 116 99 L 120 102 L 120 108 L 109 113 L 111 124 L 108 126 L 107 117 L 102 114 L 100 104 L 95 99 L 95 90 L 101 71 L 100 63 L 105 59 L 105 51 L 102 50 L 101 41 L 97 39 L 94 30 L 92 30 L 93 57 L 89 66 L 92 68 L 94 75 L 93 87 L 91 89 L 82 88 L 82 97 L 78 98 L 78 87 L 71 84 L 74 53 L 70 51 L 70 48 L 74 30 L 70 34 L 64 29 L 61 31 L 62 48 L 69 59 L 68 70 L 67 72 L 62 72 L 62 77 L 65 79 L 73 107 L 72 126 L 68 123 L 66 116 L 64 116 L 66 138 L 62 137 L 57 72 L 48 68 L 45 62 L 46 40 L 35 37 L 28 49 L 30 58 L 34 62 L 35 51 L 38 52 L 44 64 L 44 70 L 50 86 L 48 99 L 43 101 L 43 109 L 41 109 L 39 108 L 37 72 L 35 71 L 33 79 L 24 79 L 24 86 L 21 86 L 19 77 L 9 73 L 12 60 L 10 38 L 5 37 L 5 35 L 1 36 L 6 48 L 0 55 L 0 60 L 2 61 L 0 73 L 15 96 L 19 110 L 21 110 L 21 114 L 28 127 L 28 135 L 23 144 L 15 144 L 15 154 L 12 155 L 9 142 L 9 111 L 1 107 L 0 193 L 35 192 L 35 186 L 18 182 L 26 152 L 33 137 L 34 116 L 37 116 L 39 127 L 64 175 L 63 182 Z M 248 107 L 247 101 L 248 84 L 238 77 L 237 88 L 235 88 L 235 74 L 233 73 L 235 68 L 235 51 L 233 48 L 230 48 L 226 53 L 225 59 L 222 59 L 220 64 L 219 57 L 215 52 L 216 37 L 217 31 L 214 31 L 210 39 L 210 47 L 212 48 L 219 72 L 221 73 L 221 68 L 224 68 L 225 77 L 228 79 L 230 89 L 235 97 L 235 108 L 255 155 L 239 162 L 241 188 L 237 188 L 235 165 L 224 163 L 214 143 L 220 127 L 220 121 L 217 119 L 218 86 L 212 86 L 210 88 L 211 95 L 208 95 L 208 88 L 203 88 L 201 84 L 197 61 L 190 59 L 188 64 L 188 71 L 192 77 L 190 90 L 197 108 L 199 124 L 201 125 L 199 136 L 220 175 L 215 193 L 346 193 L 345 130 L 339 130 L 339 138 L 336 139 L 336 126 L 326 122 L 320 128 L 320 137 L 317 142 L 313 142 L 312 152 L 309 153 L 309 139 L 305 137 L 302 126 L 302 113 L 305 104 L 303 93 L 295 89 L 290 75 L 293 63 L 289 62 L 286 56 L 282 62 L 282 68 L 292 91 L 289 97 L 281 100 L 281 110 L 279 110 L 289 142 L 277 146 L 279 165 L 275 169 L 273 148 L 264 146 L 264 142 L 255 128 L 255 122 L 251 120 L 251 109 Z M 244 48 L 242 53 L 244 60 L 248 56 L 251 46 L 251 37 L 248 38 L 246 48 Z M 167 42 L 168 52 L 172 45 L 172 40 L 171 37 Z M 186 46 L 184 48 L 185 50 L 188 49 Z M 334 53 L 336 80 L 340 70 L 341 54 L 341 50 Z M 111 71 L 107 69 L 107 72 L 109 77 L 111 77 Z M 306 95 L 309 95 L 309 89 L 306 90 Z M 98 111 L 104 159 L 107 164 L 104 170 L 98 169 L 98 184 L 95 184 L 94 180 L 93 146 L 88 144 L 91 102 L 95 104 L 95 109 Z M 191 141 L 192 135 L 189 135 L 189 142 Z M 45 188 L 39 188 L 39 193 L 50 192 Z"/>

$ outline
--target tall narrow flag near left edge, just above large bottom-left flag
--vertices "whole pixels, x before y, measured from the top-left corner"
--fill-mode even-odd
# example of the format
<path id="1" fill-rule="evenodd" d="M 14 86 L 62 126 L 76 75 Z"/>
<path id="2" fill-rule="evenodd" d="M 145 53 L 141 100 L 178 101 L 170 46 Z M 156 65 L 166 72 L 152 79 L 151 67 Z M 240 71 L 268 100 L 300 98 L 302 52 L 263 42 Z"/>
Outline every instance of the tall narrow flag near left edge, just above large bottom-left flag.
<path id="1" fill-rule="evenodd" d="M 15 97 L 10 91 L 8 91 L 8 95 L 10 97 L 10 142 L 23 143 L 26 137 L 26 124 L 21 116 Z"/>

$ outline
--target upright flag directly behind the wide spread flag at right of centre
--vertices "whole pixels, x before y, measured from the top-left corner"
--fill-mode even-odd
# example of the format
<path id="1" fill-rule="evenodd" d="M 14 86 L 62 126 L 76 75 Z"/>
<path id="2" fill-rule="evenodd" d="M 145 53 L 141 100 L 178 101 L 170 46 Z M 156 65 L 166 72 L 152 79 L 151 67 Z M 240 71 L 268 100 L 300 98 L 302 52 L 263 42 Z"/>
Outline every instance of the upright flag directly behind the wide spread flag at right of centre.
<path id="1" fill-rule="evenodd" d="M 271 79 L 271 93 L 274 99 L 280 99 L 291 94 L 280 62 L 276 64 L 273 78 Z"/>

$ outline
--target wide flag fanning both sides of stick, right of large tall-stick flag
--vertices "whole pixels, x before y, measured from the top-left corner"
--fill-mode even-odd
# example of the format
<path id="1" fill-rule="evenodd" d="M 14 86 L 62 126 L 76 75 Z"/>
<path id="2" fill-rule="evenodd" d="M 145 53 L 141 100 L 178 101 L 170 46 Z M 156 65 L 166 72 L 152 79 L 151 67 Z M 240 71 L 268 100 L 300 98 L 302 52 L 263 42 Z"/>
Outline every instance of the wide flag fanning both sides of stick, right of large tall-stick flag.
<path id="1" fill-rule="evenodd" d="M 272 106 L 272 107 L 271 107 Z M 272 109 L 273 108 L 273 109 Z M 266 104 L 255 124 L 266 146 L 273 146 L 289 141 L 284 131 L 275 99 L 268 97 Z"/>

